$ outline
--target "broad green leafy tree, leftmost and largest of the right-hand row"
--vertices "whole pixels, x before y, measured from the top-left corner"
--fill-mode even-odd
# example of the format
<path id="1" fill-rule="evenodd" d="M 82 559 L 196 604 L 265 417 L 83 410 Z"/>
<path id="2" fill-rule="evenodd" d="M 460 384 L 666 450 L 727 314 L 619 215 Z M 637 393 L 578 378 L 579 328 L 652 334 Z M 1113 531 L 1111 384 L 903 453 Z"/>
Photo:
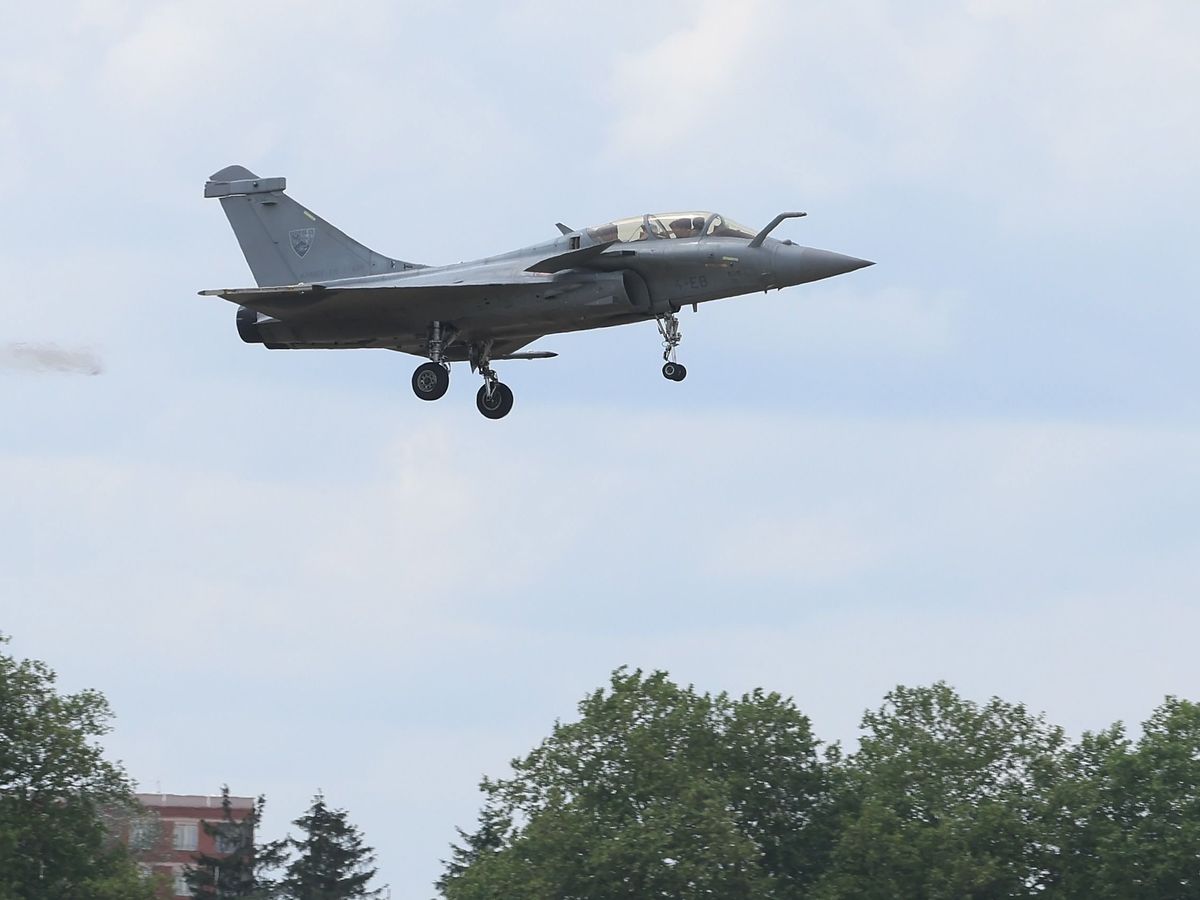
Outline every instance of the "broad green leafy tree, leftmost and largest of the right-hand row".
<path id="1" fill-rule="evenodd" d="M 450 900 L 800 898 L 829 845 L 826 766 L 778 694 L 740 700 L 618 670 L 580 719 L 485 779 Z"/>

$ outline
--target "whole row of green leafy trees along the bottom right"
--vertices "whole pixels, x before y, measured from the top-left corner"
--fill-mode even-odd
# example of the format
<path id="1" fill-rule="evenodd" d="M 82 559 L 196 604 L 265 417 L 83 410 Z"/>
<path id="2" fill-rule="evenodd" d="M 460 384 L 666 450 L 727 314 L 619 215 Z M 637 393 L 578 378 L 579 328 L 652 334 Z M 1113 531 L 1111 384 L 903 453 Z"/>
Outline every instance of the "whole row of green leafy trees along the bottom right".
<path id="1" fill-rule="evenodd" d="M 1200 706 L 1074 745 L 1024 706 L 896 688 L 818 756 L 779 695 L 618 670 L 485 780 L 448 900 L 1200 900 Z"/>

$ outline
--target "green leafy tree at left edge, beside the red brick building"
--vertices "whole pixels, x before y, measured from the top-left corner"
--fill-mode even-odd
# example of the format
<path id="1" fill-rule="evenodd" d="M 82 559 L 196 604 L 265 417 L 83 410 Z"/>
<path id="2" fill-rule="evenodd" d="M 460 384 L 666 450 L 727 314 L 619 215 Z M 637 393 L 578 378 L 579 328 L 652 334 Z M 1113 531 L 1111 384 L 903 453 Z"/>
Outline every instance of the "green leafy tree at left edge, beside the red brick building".
<path id="1" fill-rule="evenodd" d="M 95 690 L 59 694 L 53 670 L 4 652 L 0 635 L 0 898 L 148 900 L 108 817 L 136 815 L 120 766 L 96 738 L 112 710 Z"/>

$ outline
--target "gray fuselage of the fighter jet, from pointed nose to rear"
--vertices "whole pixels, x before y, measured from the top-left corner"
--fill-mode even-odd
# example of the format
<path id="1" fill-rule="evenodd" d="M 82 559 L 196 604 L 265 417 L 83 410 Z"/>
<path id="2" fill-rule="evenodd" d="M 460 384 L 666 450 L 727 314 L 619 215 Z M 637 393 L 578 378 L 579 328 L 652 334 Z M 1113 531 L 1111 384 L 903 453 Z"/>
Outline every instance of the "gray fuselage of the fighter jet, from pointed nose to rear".
<path id="1" fill-rule="evenodd" d="M 474 335 L 503 340 L 641 322 L 870 265 L 773 238 L 751 246 L 749 233 L 606 240 L 614 235 L 604 229 L 451 265 L 326 281 L 325 296 L 341 293 L 356 302 L 320 302 L 310 314 L 294 311 L 287 323 L 266 319 L 257 326 L 268 343 L 392 347 L 420 355 L 428 316 L 406 298 L 422 287 L 436 292 L 439 320 L 469 342 Z M 598 252 L 584 265 L 529 271 L 540 260 L 588 247 Z M 329 314 L 334 308 L 337 314 Z"/>

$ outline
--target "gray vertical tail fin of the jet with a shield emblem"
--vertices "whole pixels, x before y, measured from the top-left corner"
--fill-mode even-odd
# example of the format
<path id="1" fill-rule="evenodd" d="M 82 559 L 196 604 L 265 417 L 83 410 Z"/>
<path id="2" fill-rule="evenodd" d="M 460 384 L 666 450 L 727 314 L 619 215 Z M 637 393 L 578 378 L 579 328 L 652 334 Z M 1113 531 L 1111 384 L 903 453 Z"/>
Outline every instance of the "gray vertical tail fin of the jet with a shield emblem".
<path id="1" fill-rule="evenodd" d="M 293 200 L 282 178 L 228 166 L 209 178 L 259 287 L 353 278 L 424 268 L 376 253 Z"/>

